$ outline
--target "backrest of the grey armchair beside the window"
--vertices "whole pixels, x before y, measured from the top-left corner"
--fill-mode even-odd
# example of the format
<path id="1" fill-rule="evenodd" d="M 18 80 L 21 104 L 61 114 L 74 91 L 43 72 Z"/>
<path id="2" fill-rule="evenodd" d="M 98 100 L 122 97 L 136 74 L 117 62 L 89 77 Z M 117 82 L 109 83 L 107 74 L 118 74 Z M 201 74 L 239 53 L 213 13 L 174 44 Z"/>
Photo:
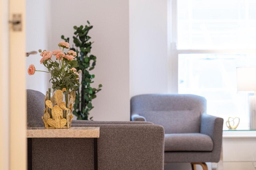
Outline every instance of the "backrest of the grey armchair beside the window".
<path id="1" fill-rule="evenodd" d="M 191 94 L 145 94 L 131 98 L 131 115 L 164 127 L 165 133 L 199 133 L 206 99 Z"/>

